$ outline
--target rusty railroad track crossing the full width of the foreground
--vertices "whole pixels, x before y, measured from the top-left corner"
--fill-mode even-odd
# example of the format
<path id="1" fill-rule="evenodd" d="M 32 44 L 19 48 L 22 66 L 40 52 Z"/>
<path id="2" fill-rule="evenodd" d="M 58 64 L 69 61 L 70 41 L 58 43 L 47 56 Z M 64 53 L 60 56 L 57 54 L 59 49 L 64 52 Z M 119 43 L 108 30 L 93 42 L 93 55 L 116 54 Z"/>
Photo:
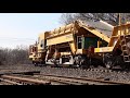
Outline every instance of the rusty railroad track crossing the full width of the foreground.
<path id="1" fill-rule="evenodd" d="M 2 75 L 0 77 L 0 82 L 4 82 L 4 84 L 9 83 L 9 85 L 130 85 L 130 83 L 109 82 L 84 77 L 66 77 L 55 75 L 22 75 L 22 74 Z"/>

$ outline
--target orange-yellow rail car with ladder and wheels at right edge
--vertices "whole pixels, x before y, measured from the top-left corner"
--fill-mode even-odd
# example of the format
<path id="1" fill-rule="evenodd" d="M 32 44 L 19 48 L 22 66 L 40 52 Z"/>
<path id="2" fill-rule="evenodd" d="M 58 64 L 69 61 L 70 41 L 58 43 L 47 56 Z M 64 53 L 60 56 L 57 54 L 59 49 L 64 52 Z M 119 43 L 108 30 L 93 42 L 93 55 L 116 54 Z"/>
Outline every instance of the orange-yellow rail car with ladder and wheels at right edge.
<path id="1" fill-rule="evenodd" d="M 103 57 L 106 68 L 130 66 L 130 23 L 114 27 L 107 47 L 94 48 L 94 53 Z"/>

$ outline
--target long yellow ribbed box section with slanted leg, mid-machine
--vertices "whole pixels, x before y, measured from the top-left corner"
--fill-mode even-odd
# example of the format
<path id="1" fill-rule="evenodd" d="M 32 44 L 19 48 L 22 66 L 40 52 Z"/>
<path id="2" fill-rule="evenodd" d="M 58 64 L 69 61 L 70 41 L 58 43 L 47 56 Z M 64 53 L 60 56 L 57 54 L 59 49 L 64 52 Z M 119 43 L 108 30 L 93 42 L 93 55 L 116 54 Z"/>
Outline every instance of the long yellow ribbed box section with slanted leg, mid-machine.
<path id="1" fill-rule="evenodd" d="M 62 26 L 60 28 L 50 32 L 49 36 L 47 37 L 47 46 L 65 47 L 66 45 L 69 45 L 72 52 L 75 53 L 76 45 L 74 38 L 74 30 L 75 30 L 75 24 L 72 23 L 69 25 Z"/>

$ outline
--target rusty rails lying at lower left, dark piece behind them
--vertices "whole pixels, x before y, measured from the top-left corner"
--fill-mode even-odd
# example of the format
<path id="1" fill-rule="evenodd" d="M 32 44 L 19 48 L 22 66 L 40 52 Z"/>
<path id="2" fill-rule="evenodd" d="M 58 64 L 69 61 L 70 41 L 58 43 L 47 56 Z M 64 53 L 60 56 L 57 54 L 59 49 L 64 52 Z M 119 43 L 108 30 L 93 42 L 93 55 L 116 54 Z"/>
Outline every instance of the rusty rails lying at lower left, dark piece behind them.
<path id="1" fill-rule="evenodd" d="M 31 72 L 15 72 L 15 73 L 2 73 L 0 74 L 0 85 L 50 85 L 49 81 L 39 81 L 36 78 L 28 78 L 24 75 L 34 75 L 39 71 Z"/>

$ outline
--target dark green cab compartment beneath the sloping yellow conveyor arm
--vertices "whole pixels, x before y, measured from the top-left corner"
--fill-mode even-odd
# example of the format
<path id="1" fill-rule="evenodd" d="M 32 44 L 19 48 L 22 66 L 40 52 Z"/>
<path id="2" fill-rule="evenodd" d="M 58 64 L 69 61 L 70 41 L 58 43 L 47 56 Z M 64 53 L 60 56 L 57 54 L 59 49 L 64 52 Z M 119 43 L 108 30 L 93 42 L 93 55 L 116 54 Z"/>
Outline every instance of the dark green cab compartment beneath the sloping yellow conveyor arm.
<path id="1" fill-rule="evenodd" d="M 107 42 L 96 36 L 77 36 L 77 53 L 87 53 L 89 50 L 94 52 L 94 48 L 101 46 L 107 46 Z"/>

